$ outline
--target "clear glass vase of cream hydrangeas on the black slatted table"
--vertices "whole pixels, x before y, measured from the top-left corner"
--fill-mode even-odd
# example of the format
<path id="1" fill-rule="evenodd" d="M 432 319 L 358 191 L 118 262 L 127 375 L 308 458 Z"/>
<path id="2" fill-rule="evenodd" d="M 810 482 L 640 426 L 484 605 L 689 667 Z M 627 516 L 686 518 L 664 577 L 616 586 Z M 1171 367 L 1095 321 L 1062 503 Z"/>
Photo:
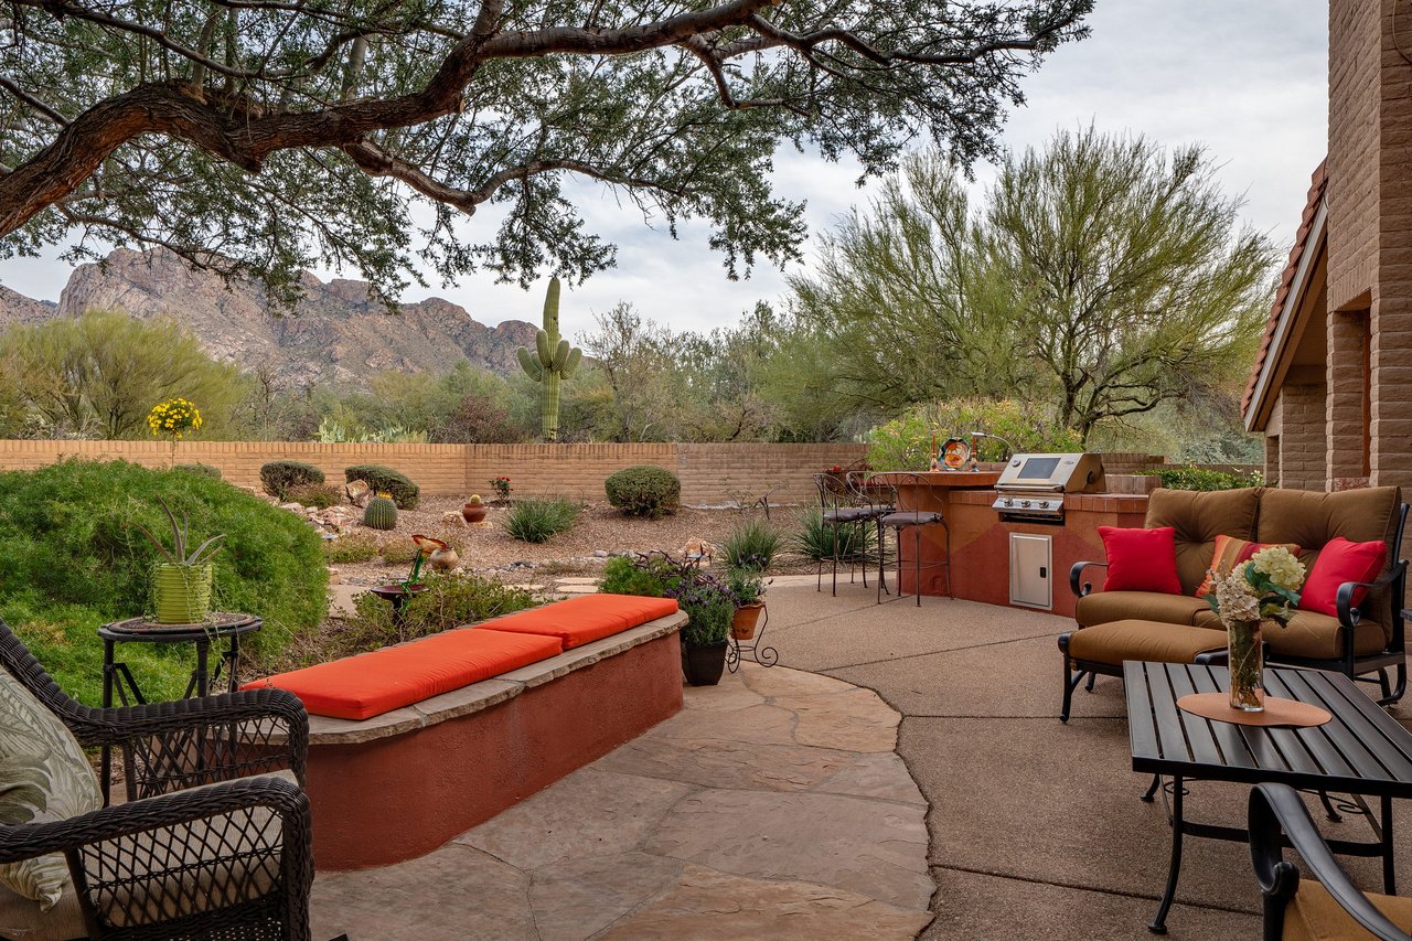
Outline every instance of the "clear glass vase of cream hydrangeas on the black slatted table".
<path id="1" fill-rule="evenodd" d="M 1213 572 L 1206 602 L 1226 625 L 1231 708 L 1265 709 L 1265 623 L 1285 627 L 1299 608 L 1305 565 L 1284 545 L 1271 545 L 1228 572 Z"/>

